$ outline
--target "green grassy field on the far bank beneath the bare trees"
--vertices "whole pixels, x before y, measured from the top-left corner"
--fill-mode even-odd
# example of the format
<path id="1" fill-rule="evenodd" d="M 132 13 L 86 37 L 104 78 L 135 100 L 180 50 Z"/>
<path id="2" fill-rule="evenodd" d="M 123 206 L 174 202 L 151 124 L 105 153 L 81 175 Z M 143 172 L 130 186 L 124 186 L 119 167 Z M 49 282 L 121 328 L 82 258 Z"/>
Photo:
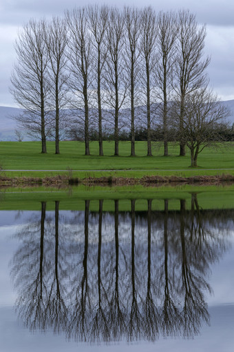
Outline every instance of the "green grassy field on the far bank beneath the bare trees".
<path id="1" fill-rule="evenodd" d="M 120 156 L 114 157 L 114 142 L 104 142 L 104 157 L 98 156 L 98 142 L 90 143 L 90 156 L 84 155 L 84 144 L 78 141 L 61 141 L 61 154 L 54 154 L 54 142 L 47 143 L 47 154 L 40 153 L 41 144 L 37 141 L 1 141 L 0 166 L 8 171 L 8 176 L 40 176 L 56 175 L 61 171 L 72 170 L 75 177 L 87 176 L 127 176 L 143 175 L 215 175 L 221 173 L 234 174 L 234 146 L 226 144 L 221 148 L 206 148 L 198 157 L 198 167 L 190 168 L 189 150 L 186 157 L 178 157 L 178 146 L 169 146 L 169 157 L 163 157 L 162 144 L 153 143 L 153 157 L 146 157 L 145 141 L 136 142 L 136 157 L 130 157 L 130 142 L 121 141 Z M 232 170 L 228 170 L 228 169 Z M 209 170 L 207 170 L 209 169 Z M 221 170 L 212 170 L 221 169 Z M 35 170 L 46 170 L 38 172 Z M 79 170 L 78 172 L 74 170 Z M 106 171 L 107 170 L 107 171 Z M 68 172 L 68 171 L 67 171 Z"/>

